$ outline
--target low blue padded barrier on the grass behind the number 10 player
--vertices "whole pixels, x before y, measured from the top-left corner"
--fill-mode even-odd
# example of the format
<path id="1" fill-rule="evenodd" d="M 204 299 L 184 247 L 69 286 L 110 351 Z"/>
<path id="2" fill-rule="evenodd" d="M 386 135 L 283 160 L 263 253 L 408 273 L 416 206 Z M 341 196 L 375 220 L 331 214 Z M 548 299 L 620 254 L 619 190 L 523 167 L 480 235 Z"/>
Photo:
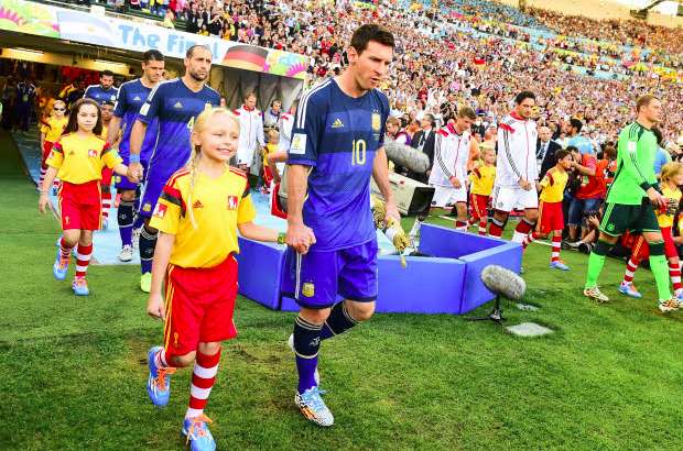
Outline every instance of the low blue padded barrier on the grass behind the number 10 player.
<path id="1" fill-rule="evenodd" d="M 299 310 L 288 297 L 284 246 L 240 238 L 240 250 L 239 293 L 273 310 Z M 519 244 L 432 224 L 422 226 L 420 252 L 426 256 L 406 257 L 405 268 L 398 255 L 378 257 L 378 312 L 466 314 L 494 298 L 479 279 L 485 266 L 519 272 L 522 258 Z"/>

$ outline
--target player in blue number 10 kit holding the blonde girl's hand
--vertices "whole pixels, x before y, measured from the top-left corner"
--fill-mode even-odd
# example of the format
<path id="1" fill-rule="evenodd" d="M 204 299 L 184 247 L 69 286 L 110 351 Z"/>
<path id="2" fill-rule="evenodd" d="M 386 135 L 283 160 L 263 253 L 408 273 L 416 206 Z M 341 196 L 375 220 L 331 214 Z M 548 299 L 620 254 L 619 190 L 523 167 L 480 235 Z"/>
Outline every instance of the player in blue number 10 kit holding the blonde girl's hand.
<path id="1" fill-rule="evenodd" d="M 400 220 L 383 150 L 389 101 L 377 86 L 393 58 L 393 35 L 362 25 L 348 50 L 348 68 L 301 98 L 288 160 L 289 292 L 301 307 L 290 338 L 296 359 L 295 403 L 321 426 L 334 417 L 317 387 L 321 341 L 375 312 L 377 234 L 370 177 Z M 288 288 L 285 285 L 285 288 Z M 337 302 L 337 296 L 344 300 Z"/>

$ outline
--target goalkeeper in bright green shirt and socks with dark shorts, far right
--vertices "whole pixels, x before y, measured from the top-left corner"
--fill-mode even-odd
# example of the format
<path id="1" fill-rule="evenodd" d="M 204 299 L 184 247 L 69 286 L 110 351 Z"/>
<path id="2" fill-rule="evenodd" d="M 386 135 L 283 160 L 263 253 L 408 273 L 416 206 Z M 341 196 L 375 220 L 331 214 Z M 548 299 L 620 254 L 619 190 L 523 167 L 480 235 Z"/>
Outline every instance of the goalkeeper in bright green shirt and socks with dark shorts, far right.
<path id="1" fill-rule="evenodd" d="M 598 302 L 609 301 L 597 287 L 605 255 L 625 232 L 642 233 L 650 245 L 650 268 L 657 282 L 659 309 L 669 312 L 676 310 L 682 304 L 672 297 L 669 289 L 664 240 L 654 213 L 655 209 L 666 208 L 666 199 L 661 195 L 654 175 L 658 145 L 651 130 L 661 120 L 661 109 L 662 103 L 657 97 L 641 96 L 636 102 L 636 122 L 619 133 L 617 172 L 607 193 L 600 235 L 588 258 L 584 296 Z"/>

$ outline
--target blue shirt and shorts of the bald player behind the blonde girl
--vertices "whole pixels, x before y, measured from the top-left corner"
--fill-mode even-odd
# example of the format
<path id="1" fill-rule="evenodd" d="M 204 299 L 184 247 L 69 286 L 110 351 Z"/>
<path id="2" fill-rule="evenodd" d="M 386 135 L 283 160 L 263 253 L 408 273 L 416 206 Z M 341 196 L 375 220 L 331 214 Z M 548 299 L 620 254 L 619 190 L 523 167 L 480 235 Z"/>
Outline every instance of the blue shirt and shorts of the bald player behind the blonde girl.
<path id="1" fill-rule="evenodd" d="M 164 185 L 189 160 L 189 134 L 196 117 L 206 108 L 219 105 L 220 95 L 214 89 L 204 86 L 195 92 L 181 78 L 162 81 L 150 92 L 140 108 L 138 119 L 148 127 L 158 120 L 159 125 L 142 193 L 140 216 L 152 217 Z"/>

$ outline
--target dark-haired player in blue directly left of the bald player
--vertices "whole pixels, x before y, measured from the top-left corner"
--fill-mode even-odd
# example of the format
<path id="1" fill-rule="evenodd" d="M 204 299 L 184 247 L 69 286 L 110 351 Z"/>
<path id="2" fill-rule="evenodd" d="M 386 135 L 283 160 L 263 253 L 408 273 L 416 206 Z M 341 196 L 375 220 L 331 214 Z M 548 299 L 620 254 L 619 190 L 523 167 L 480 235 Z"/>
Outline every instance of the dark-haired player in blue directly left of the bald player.
<path id="1" fill-rule="evenodd" d="M 119 155 L 128 165 L 130 163 L 130 132 L 133 123 L 138 119 L 140 108 L 150 96 L 152 89 L 162 80 L 164 72 L 164 55 L 156 50 L 151 50 L 142 54 L 142 77 L 135 80 L 126 81 L 119 87 L 113 118 L 109 123 L 107 142 L 116 143 L 119 133 L 122 132 L 119 144 Z M 140 152 L 140 163 L 147 174 L 148 163 L 154 143 L 156 141 L 156 120 L 150 122 L 148 132 L 144 135 L 142 150 Z M 133 257 L 132 235 L 133 231 L 140 229 L 143 223 L 142 217 L 135 216 L 135 201 L 138 199 L 139 184 L 130 182 L 126 177 L 116 176 L 116 188 L 121 195 L 117 219 L 119 222 L 119 233 L 121 235 L 121 253 L 119 260 L 129 262 Z"/>

